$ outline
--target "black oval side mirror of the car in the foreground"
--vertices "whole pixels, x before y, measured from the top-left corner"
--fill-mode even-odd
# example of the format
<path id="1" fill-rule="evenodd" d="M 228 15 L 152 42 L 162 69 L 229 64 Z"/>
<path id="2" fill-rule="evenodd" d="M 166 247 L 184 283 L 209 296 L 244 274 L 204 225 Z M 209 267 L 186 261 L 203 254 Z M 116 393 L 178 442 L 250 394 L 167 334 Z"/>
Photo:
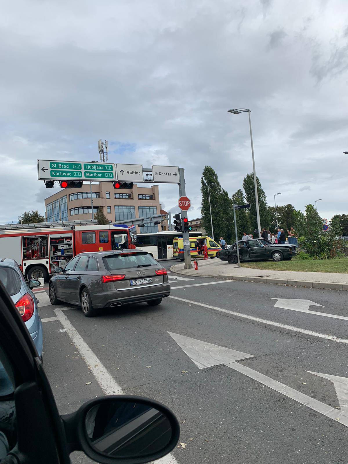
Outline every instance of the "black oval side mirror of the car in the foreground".
<path id="1" fill-rule="evenodd" d="M 88 401 L 62 416 L 69 451 L 84 451 L 103 464 L 141 464 L 168 454 L 180 426 L 166 406 L 129 395 Z"/>

